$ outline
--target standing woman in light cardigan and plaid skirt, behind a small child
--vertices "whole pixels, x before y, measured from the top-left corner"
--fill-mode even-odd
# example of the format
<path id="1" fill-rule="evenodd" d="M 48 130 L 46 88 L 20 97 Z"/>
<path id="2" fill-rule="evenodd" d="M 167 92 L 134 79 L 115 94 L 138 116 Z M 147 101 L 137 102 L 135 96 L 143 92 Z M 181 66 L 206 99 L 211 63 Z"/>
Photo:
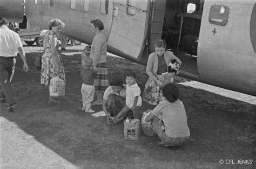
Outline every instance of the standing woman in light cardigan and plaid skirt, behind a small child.
<path id="1" fill-rule="evenodd" d="M 92 58 L 92 67 L 94 71 L 97 71 L 95 77 L 94 86 L 96 91 L 96 101 L 92 102 L 92 105 L 102 104 L 102 94 L 109 87 L 109 79 L 107 76 L 107 43 L 106 37 L 102 33 L 104 25 L 101 20 L 95 19 L 91 20 L 91 30 L 95 33 L 91 44 L 90 58 Z"/>

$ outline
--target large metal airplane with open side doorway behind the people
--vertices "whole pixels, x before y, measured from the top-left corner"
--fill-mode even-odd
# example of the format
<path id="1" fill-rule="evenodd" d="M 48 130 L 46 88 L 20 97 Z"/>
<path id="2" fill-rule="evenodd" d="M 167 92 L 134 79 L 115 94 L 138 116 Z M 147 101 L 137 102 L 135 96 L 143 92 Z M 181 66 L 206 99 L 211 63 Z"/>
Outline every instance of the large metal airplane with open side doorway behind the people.
<path id="1" fill-rule="evenodd" d="M 85 44 L 94 36 L 90 20 L 100 19 L 107 51 L 143 65 L 164 38 L 183 62 L 179 76 L 256 96 L 255 0 L 0 1 L 9 22 L 22 22 L 24 12 L 44 29 L 59 18 L 62 33 Z"/>

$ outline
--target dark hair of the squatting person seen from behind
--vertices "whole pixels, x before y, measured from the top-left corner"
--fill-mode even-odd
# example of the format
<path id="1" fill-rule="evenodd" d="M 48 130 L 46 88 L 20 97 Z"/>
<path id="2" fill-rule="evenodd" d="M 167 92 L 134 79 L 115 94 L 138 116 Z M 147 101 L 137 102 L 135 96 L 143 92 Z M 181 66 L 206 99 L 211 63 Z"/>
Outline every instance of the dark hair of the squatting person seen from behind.
<path id="1" fill-rule="evenodd" d="M 179 99 L 179 89 L 176 85 L 173 83 L 169 83 L 164 86 L 163 88 L 163 96 L 167 99 L 169 102 L 175 102 Z"/>

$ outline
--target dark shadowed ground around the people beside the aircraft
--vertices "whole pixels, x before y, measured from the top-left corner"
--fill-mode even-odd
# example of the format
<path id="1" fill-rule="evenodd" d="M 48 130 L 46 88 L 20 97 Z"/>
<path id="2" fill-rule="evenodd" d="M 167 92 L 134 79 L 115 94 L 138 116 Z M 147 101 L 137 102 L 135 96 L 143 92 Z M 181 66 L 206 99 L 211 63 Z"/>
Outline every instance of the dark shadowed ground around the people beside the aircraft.
<path id="1" fill-rule="evenodd" d="M 67 49 L 67 52 L 80 51 Z M 79 109 L 82 107 L 79 54 L 62 55 L 66 94 L 60 98 L 62 103 L 49 105 L 48 87 L 40 85 L 40 72 L 33 69 L 38 51 L 33 47 L 25 50 L 30 71 L 24 73 L 22 61 L 17 58 L 13 83 L 19 109 L 10 113 L 6 111 L 8 105 L 0 104 L 0 115 L 71 164 L 81 168 L 255 168 L 256 105 L 178 85 L 191 132 L 187 144 L 166 149 L 156 145 L 157 136 L 143 133 L 137 141 L 125 140 L 123 123 L 109 125 L 106 117 L 93 117 Z M 110 78 L 113 75 L 124 78 L 127 71 L 136 72 L 143 91 L 148 79 L 145 66 L 115 57 L 108 57 L 107 65 Z M 187 80 L 175 77 L 174 81 Z M 100 106 L 92 108 L 102 110 Z M 143 103 L 143 111 L 152 108 Z M 1 125 L 2 130 L 4 127 Z M 2 142 L 2 146 L 7 144 Z M 2 154 L 2 159 L 4 156 Z M 221 159 L 225 161 L 222 165 Z M 233 159 L 234 163 L 240 159 L 254 161 L 247 165 L 226 164 L 227 159 Z M 12 167 L 3 161 L 3 166 Z M 35 163 L 31 167 L 34 166 Z M 21 167 L 24 166 L 21 164 Z"/>

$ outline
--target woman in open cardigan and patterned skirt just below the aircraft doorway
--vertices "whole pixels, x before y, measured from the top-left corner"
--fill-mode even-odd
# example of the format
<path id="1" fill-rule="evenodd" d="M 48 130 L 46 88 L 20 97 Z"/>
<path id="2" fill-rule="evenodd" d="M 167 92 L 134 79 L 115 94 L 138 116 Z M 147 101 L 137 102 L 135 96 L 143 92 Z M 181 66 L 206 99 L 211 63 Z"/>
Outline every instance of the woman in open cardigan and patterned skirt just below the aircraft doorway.
<path id="1" fill-rule="evenodd" d="M 169 63 L 176 59 L 176 61 L 181 65 L 181 61 L 177 58 L 171 51 L 166 51 L 166 41 L 163 39 L 156 40 L 154 44 L 154 50 L 149 55 L 149 60 L 147 60 L 146 73 L 149 75 L 149 80 L 147 80 L 144 93 L 143 101 L 157 105 L 161 98 L 161 93 L 163 90 L 163 82 L 158 79 L 158 75 L 167 72 L 167 66 Z M 175 73 L 169 73 L 169 83 L 173 82 L 173 76 Z M 168 83 L 168 80 L 166 80 Z"/>

